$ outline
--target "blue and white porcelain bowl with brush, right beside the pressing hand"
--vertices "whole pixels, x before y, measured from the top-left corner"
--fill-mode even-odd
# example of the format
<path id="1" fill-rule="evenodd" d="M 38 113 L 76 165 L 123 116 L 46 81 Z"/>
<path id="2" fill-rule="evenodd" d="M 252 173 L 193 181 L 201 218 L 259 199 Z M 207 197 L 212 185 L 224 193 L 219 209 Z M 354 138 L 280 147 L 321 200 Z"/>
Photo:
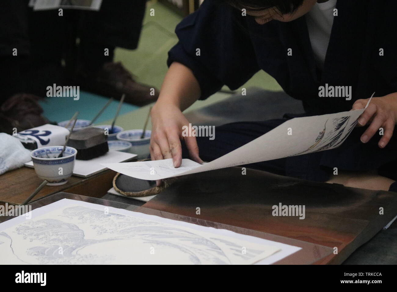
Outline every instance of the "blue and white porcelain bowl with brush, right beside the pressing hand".
<path id="1" fill-rule="evenodd" d="M 117 134 L 117 139 L 131 143 L 131 153 L 137 154 L 138 159 L 145 159 L 150 154 L 150 135 L 152 131 L 146 130 L 145 137 L 141 139 L 143 130 L 127 130 Z"/>

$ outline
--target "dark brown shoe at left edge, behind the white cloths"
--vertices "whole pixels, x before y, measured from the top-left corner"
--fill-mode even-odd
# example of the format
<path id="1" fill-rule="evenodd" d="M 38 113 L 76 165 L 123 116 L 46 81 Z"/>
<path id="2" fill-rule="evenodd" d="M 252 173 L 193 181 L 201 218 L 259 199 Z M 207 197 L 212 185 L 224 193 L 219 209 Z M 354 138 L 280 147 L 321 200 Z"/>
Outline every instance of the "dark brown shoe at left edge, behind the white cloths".
<path id="1" fill-rule="evenodd" d="M 7 99 L 0 107 L 0 132 L 12 134 L 13 128 L 23 131 L 50 124 L 41 114 L 40 97 L 18 93 Z"/>

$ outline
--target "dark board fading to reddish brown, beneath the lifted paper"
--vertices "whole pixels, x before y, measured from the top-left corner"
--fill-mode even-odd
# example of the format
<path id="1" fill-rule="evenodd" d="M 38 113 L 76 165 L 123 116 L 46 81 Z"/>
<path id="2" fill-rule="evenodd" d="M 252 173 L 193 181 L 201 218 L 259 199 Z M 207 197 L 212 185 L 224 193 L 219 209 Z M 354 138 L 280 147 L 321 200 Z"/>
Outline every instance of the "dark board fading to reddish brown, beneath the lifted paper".
<path id="1" fill-rule="evenodd" d="M 279 203 L 305 205 L 305 218 L 275 217 Z M 317 263 L 340 264 L 395 217 L 397 196 L 232 167 L 181 176 L 143 207 L 337 248 Z"/>

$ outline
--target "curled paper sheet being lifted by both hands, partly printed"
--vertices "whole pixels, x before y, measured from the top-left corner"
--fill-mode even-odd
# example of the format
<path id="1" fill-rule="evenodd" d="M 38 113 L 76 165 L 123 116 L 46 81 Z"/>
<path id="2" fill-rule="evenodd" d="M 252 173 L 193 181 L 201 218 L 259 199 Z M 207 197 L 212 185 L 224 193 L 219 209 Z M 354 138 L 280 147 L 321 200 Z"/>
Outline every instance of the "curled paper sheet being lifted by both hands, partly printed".
<path id="1" fill-rule="evenodd" d="M 366 106 L 370 101 L 371 99 Z M 358 117 L 364 112 L 364 109 L 287 120 L 240 148 L 204 164 L 199 164 L 190 159 L 182 159 L 182 165 L 179 168 L 174 168 L 172 159 L 164 159 L 106 163 L 103 165 L 134 178 L 160 180 L 173 176 L 330 150 L 339 147 L 345 141 L 355 128 Z"/>

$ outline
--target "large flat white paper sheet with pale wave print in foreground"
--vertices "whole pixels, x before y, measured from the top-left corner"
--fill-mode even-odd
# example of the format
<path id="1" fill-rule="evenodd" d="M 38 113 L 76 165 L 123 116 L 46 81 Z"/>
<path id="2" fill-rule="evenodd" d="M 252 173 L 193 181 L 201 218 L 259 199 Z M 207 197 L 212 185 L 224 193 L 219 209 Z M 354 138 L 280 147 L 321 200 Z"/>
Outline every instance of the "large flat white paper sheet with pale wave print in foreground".
<path id="1" fill-rule="evenodd" d="M 19 216 L 0 224 L 0 263 L 265 264 L 301 249 L 70 199 L 31 215 L 30 220 Z"/>

